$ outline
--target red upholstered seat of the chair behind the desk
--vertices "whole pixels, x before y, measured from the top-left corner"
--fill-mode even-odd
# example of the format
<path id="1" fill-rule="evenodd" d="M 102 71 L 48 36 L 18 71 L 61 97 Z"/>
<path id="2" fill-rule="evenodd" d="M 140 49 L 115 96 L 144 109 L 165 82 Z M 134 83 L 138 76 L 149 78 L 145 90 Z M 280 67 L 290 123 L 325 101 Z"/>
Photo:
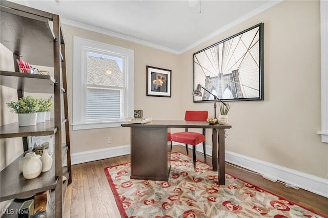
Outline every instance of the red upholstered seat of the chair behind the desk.
<path id="1" fill-rule="evenodd" d="M 189 145 L 197 145 L 205 141 L 205 136 L 200 133 L 194 133 L 194 132 L 172 133 L 171 141 L 180 142 Z"/>

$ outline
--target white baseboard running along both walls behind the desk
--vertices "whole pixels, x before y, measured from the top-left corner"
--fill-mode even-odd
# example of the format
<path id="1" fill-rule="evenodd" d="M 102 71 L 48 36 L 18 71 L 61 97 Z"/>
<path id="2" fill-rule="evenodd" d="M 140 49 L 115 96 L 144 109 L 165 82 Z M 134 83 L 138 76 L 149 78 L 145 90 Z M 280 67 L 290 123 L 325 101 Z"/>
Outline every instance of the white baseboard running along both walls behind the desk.
<path id="1" fill-rule="evenodd" d="M 178 145 L 180 143 L 174 143 Z M 190 146 L 190 148 L 192 148 Z M 203 152 L 201 144 L 197 146 L 197 151 Z M 96 161 L 106 158 L 118 157 L 130 154 L 130 145 L 123 145 L 113 148 L 105 148 L 91 151 L 78 152 L 71 155 L 73 164 Z M 206 145 L 206 154 L 212 156 L 212 146 Z M 328 180 L 300 172 L 290 168 L 275 165 L 269 162 L 257 160 L 247 156 L 239 155 L 235 152 L 226 151 L 226 161 L 237 166 L 252 170 L 266 175 L 267 177 L 276 178 L 277 180 L 296 185 L 304 190 L 311 191 L 328 198 Z"/>

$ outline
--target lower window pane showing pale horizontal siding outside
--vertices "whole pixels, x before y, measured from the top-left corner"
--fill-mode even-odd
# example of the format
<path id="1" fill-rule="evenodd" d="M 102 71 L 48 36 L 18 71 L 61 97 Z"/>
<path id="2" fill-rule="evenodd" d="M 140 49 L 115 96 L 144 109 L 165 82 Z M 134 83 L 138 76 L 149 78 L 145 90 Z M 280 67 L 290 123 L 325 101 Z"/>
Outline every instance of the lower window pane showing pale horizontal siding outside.
<path id="1" fill-rule="evenodd" d="M 87 119 L 122 118 L 122 90 L 87 87 Z"/>

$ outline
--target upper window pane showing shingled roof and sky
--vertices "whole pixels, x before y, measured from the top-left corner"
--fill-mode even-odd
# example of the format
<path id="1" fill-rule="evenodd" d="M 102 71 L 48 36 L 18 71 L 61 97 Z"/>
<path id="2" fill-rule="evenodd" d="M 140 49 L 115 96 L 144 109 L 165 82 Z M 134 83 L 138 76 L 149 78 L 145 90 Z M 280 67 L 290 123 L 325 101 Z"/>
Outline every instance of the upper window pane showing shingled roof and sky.
<path id="1" fill-rule="evenodd" d="M 122 86 L 122 58 L 88 52 L 87 83 Z"/>

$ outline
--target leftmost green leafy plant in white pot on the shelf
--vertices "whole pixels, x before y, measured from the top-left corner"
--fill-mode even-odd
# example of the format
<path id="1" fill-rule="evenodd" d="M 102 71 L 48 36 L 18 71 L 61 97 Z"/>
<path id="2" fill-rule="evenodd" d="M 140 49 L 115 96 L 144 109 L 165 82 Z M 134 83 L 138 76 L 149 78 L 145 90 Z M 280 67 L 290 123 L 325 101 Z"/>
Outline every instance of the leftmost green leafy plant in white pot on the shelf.
<path id="1" fill-rule="evenodd" d="M 36 124 L 36 112 L 39 107 L 38 99 L 31 96 L 19 98 L 17 101 L 7 103 L 11 112 L 18 114 L 19 126 L 30 126 Z"/>

